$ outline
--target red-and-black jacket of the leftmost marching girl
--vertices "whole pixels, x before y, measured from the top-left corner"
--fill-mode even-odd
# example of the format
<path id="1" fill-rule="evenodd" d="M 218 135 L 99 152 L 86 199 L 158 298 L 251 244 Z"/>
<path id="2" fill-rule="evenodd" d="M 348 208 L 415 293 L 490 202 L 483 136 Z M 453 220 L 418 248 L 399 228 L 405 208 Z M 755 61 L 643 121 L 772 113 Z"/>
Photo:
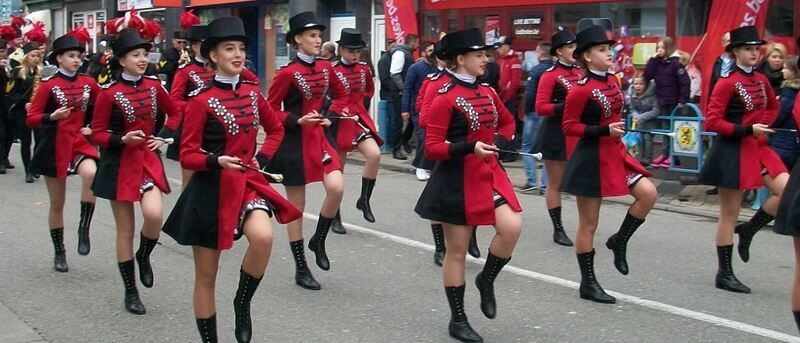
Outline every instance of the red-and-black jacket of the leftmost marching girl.
<path id="1" fill-rule="evenodd" d="M 41 80 L 26 118 L 28 127 L 41 132 L 31 160 L 33 172 L 64 179 L 69 169 L 77 167 L 71 163 L 79 155 L 98 159 L 97 147 L 80 130 L 91 122 L 89 109 L 99 91 L 97 82 L 87 75 L 70 77 L 58 72 Z M 50 114 L 65 106 L 72 107 L 69 117 L 50 120 Z"/>

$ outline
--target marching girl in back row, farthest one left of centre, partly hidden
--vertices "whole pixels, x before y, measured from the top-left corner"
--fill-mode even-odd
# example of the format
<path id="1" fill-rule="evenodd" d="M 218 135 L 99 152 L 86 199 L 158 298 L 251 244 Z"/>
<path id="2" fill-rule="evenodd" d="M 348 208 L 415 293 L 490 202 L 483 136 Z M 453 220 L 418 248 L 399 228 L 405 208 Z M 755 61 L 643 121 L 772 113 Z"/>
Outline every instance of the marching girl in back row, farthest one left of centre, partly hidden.
<path id="1" fill-rule="evenodd" d="M 375 85 L 369 66 L 359 61 L 361 49 L 366 46 L 361 39 L 361 31 L 342 29 L 341 39 L 336 43 L 339 45 L 341 57 L 334 63 L 333 71 L 349 93 L 347 97 L 336 99 L 331 104 L 330 110 L 342 113 L 342 108 L 347 107 L 350 109 L 349 115 L 356 118 L 356 120 L 339 119 L 333 123 L 336 148 L 339 151 L 342 169 L 347 153 L 353 149 L 358 150 L 366 158 L 367 162 L 361 176 L 361 196 L 356 202 L 356 208 L 363 212 L 364 220 L 374 223 L 375 216 L 372 214 L 369 200 L 375 188 L 375 180 L 378 178 L 378 167 L 381 162 L 380 146 L 383 145 L 383 139 L 378 135 L 368 110 L 369 102 L 375 93 Z M 340 218 L 338 212 L 336 216 L 337 219 Z"/>

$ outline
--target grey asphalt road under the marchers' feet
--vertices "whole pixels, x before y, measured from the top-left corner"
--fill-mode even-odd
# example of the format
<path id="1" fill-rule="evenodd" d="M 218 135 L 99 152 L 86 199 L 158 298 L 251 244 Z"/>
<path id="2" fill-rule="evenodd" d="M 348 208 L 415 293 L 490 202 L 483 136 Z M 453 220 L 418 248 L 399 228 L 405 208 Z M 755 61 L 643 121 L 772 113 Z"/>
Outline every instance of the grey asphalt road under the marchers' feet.
<path id="1" fill-rule="evenodd" d="M 168 161 L 166 166 L 170 177 L 179 178 L 176 163 Z M 378 222 L 370 224 L 355 209 L 360 167 L 348 166 L 346 182 L 342 215 L 349 233 L 331 233 L 330 271 L 313 266 L 321 291 L 294 284 L 285 230 L 274 226 L 273 257 L 253 300 L 254 341 L 452 341 L 440 269 L 432 261 L 430 228 L 412 211 L 424 183 L 411 175 L 381 171 L 372 201 Z M 19 168 L 0 175 L 0 331 L 7 331 L 0 341 L 14 341 L 9 338 L 14 330 L 31 329 L 36 339 L 54 342 L 198 341 L 191 249 L 162 236 L 163 245 L 153 253 L 155 287 L 139 286 L 148 312 L 125 312 L 108 201 L 98 201 L 91 255 L 76 253 L 79 183 L 76 177 L 69 179 L 65 242 L 70 271 L 60 274 L 52 271 L 43 180 L 24 184 Z M 544 198 L 519 196 L 525 208 L 523 234 L 497 280 L 494 320 L 481 314 L 472 285 L 483 261 L 468 264 L 467 313 L 487 342 L 798 340 L 789 309 L 794 267 L 789 238 L 768 231 L 756 236 L 750 262 L 743 264 L 736 257 L 734 265 L 753 293 L 729 293 L 714 288 L 713 220 L 655 211 L 629 244 L 631 273 L 623 276 L 602 243 L 616 231 L 626 208 L 606 204 L 597 235 L 596 272 L 606 290 L 619 292 L 619 301 L 596 304 L 578 298 L 574 250 L 552 243 Z M 175 194 L 165 197 L 165 217 L 176 199 Z M 321 199 L 321 186 L 309 187 L 306 237 L 313 233 Z M 564 202 L 564 225 L 574 237 L 577 215 L 571 200 Z M 484 254 L 492 232 L 488 227 L 479 232 Z M 244 240 L 237 242 L 220 263 L 222 342 L 235 341 L 231 303 L 245 247 Z M 306 254 L 313 261 L 313 254 Z M 30 334 L 17 337 L 34 340 Z"/>

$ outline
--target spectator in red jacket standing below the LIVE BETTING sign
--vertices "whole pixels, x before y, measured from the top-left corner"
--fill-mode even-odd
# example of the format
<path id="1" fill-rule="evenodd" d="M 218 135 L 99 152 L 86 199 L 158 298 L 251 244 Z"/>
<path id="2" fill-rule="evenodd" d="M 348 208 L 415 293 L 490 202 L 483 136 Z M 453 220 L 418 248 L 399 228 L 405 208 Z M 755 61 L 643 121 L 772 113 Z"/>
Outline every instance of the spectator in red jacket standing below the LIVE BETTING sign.
<path id="1" fill-rule="evenodd" d="M 517 92 L 522 84 L 522 61 L 520 61 L 516 51 L 511 48 L 511 43 L 511 37 L 507 36 L 501 36 L 497 39 L 497 42 L 494 43 L 497 47 L 497 65 L 500 67 L 499 95 L 508 111 L 514 115 L 517 128 L 521 129 L 522 123 L 517 116 Z M 514 135 L 515 140 L 518 139 L 519 136 L 520 134 Z M 500 149 L 504 150 L 515 150 L 517 147 L 517 144 L 513 140 L 508 141 L 501 137 L 497 138 L 496 144 Z M 517 159 L 517 155 L 501 153 L 500 159 L 503 162 L 513 162 Z"/>

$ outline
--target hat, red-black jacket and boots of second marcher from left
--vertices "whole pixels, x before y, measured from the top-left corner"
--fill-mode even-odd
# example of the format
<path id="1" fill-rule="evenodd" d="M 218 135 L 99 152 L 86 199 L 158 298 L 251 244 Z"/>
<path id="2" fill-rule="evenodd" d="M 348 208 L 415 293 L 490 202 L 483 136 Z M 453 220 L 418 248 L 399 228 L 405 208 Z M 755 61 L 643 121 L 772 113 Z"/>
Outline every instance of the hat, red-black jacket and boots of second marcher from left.
<path id="1" fill-rule="evenodd" d="M 150 46 L 136 32 L 124 30 L 114 41 L 114 55 L 120 58 L 139 48 L 149 50 Z M 157 136 L 169 138 L 177 127 L 177 108 L 157 77 L 123 72 L 117 81 L 102 87 L 92 118 L 92 138 L 101 147 L 103 157 L 92 184 L 96 196 L 118 202 L 137 202 L 153 188 L 163 194 L 170 192 L 159 152 L 150 151 L 144 143 L 127 145 L 122 141 L 127 132 L 136 130 L 142 130 L 148 137 L 156 135 L 160 113 L 166 113 L 168 119 Z M 136 252 L 140 279 L 145 287 L 152 287 L 150 254 L 157 242 L 157 238 L 142 235 Z M 136 289 L 133 260 L 119 262 L 119 269 L 125 285 L 127 310 L 144 314 L 145 308 Z"/>

